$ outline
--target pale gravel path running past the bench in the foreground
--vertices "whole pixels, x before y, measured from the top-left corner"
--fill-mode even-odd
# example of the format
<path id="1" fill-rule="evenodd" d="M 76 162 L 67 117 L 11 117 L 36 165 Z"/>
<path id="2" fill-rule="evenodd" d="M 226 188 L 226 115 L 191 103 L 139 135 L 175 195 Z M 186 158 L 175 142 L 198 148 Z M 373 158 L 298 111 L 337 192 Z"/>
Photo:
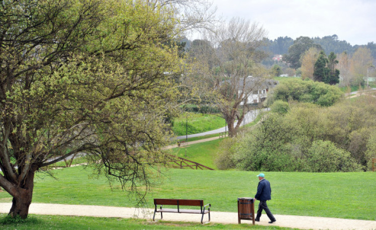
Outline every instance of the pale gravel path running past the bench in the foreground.
<path id="1" fill-rule="evenodd" d="M 8 213 L 10 203 L 0 203 L 0 213 Z M 213 209 L 212 209 L 213 210 Z M 32 203 L 29 209 L 30 214 L 39 215 L 63 215 L 63 216 L 89 216 L 89 217 L 117 217 L 117 218 L 142 218 L 152 219 L 153 209 L 136 209 L 108 206 L 91 205 L 60 205 L 60 204 L 38 204 Z M 325 217 L 302 217 L 274 215 L 277 222 L 268 224 L 269 219 L 265 214 L 261 216 L 257 225 L 275 225 L 280 227 L 312 229 L 312 230 L 376 230 L 376 221 L 349 220 Z M 155 215 L 155 220 L 160 219 L 160 214 Z M 200 222 L 200 215 L 164 213 L 163 220 L 166 221 L 187 221 Z M 205 215 L 204 221 L 208 220 Z M 211 212 L 212 223 L 237 224 L 237 213 Z M 243 224 L 252 224 L 251 221 L 241 221 Z"/>

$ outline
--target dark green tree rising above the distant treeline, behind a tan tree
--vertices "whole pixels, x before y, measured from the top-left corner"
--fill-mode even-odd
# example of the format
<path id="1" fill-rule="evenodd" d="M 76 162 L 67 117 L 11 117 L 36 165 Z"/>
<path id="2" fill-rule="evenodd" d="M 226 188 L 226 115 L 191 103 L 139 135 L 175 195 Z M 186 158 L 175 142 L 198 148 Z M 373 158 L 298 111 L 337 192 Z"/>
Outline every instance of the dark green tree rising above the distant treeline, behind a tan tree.
<path id="1" fill-rule="evenodd" d="M 312 39 L 301 36 L 290 46 L 289 53 L 284 55 L 283 60 L 289 63 L 291 68 L 298 69 L 301 67 L 301 56 L 311 47 L 322 50 L 321 46 L 314 44 Z"/>

